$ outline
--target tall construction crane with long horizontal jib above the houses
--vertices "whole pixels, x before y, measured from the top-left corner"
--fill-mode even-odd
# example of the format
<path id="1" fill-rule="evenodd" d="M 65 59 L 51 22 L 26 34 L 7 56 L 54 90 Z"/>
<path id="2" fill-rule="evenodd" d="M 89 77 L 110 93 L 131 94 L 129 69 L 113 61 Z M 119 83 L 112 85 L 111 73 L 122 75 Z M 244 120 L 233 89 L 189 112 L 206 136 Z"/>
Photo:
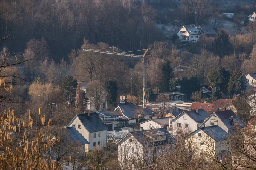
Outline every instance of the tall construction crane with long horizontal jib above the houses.
<path id="1" fill-rule="evenodd" d="M 122 51 L 116 47 L 109 47 L 109 48 L 113 48 L 112 51 L 102 51 L 103 49 L 107 49 L 107 48 L 102 48 L 99 50 L 95 50 L 95 49 L 83 49 L 83 51 L 91 51 L 91 52 L 96 52 L 96 53 L 104 53 L 104 54 L 114 54 L 114 55 L 119 55 L 119 56 L 128 56 L 128 57 L 140 57 L 142 58 L 142 91 L 143 91 L 143 108 L 145 108 L 145 104 L 148 105 L 148 100 L 146 99 L 146 94 L 145 94 L 145 76 L 144 76 L 144 65 L 145 65 L 145 54 L 148 52 L 148 48 L 147 49 L 143 49 L 143 50 L 136 50 L 136 51 L 145 51 L 143 55 L 136 55 L 136 54 L 130 54 L 128 52 L 135 52 L 135 51 Z M 122 52 L 115 52 L 116 50 L 120 50 Z"/>

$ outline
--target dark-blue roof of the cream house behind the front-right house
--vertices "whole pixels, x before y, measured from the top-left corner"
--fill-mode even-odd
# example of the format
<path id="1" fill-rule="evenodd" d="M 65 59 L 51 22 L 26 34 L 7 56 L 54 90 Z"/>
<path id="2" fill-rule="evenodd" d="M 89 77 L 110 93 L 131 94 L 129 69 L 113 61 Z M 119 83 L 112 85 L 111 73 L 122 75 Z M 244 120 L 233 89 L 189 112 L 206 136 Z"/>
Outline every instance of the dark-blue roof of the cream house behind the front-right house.
<path id="1" fill-rule="evenodd" d="M 233 116 L 233 122 L 239 123 L 239 126 L 241 127 L 245 127 L 244 123 L 236 116 L 236 114 L 232 110 L 217 111 L 212 114 L 216 114 L 229 130 L 236 129 L 236 127 L 233 126 L 233 123 L 231 121 L 231 116 Z"/>

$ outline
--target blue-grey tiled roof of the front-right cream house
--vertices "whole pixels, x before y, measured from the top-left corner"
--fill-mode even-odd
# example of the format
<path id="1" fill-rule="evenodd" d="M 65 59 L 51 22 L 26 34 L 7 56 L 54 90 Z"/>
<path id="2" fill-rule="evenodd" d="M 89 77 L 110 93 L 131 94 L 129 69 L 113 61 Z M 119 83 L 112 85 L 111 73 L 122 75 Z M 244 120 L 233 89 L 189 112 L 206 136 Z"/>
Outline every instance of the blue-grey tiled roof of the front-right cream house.
<path id="1" fill-rule="evenodd" d="M 215 141 L 222 141 L 228 139 L 228 133 L 218 125 L 200 127 L 200 129 Z"/>

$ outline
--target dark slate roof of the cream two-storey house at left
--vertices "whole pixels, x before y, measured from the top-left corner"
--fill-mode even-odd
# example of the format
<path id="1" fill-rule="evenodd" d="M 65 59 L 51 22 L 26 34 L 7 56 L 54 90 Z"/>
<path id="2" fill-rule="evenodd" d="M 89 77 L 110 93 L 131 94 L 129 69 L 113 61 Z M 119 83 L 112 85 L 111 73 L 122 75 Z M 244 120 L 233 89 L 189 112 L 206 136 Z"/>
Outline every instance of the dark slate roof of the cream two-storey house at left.
<path id="1" fill-rule="evenodd" d="M 76 116 L 81 120 L 81 123 L 89 132 L 108 130 L 108 127 L 105 126 L 96 112 L 90 113 L 90 117 L 88 116 L 88 113 L 78 114 Z"/>

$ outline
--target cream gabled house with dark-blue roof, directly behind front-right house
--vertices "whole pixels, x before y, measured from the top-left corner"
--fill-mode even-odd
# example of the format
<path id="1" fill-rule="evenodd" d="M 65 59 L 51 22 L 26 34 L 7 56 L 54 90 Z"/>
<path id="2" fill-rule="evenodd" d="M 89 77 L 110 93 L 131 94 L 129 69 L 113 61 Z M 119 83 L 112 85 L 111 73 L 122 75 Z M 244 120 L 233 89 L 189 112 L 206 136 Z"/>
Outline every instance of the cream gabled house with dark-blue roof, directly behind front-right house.
<path id="1" fill-rule="evenodd" d="M 235 130 L 237 126 L 245 127 L 244 123 L 230 110 L 213 112 L 200 127 L 218 125 L 227 133 Z"/>

